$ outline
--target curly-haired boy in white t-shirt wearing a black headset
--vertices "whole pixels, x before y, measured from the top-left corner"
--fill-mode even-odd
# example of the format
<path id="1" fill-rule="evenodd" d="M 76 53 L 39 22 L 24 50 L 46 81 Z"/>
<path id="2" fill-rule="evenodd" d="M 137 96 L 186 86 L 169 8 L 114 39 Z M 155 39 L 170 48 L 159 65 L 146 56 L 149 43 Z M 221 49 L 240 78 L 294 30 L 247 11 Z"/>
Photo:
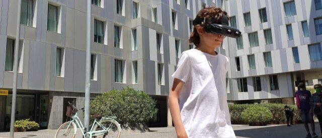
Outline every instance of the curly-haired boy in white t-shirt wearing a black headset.
<path id="1" fill-rule="evenodd" d="M 216 7 L 199 11 L 189 38 L 196 48 L 182 53 L 172 75 L 168 102 L 178 138 L 236 137 L 226 96 L 229 60 L 215 52 L 225 36 L 209 32 L 211 23 L 228 25 L 227 13 Z"/>

